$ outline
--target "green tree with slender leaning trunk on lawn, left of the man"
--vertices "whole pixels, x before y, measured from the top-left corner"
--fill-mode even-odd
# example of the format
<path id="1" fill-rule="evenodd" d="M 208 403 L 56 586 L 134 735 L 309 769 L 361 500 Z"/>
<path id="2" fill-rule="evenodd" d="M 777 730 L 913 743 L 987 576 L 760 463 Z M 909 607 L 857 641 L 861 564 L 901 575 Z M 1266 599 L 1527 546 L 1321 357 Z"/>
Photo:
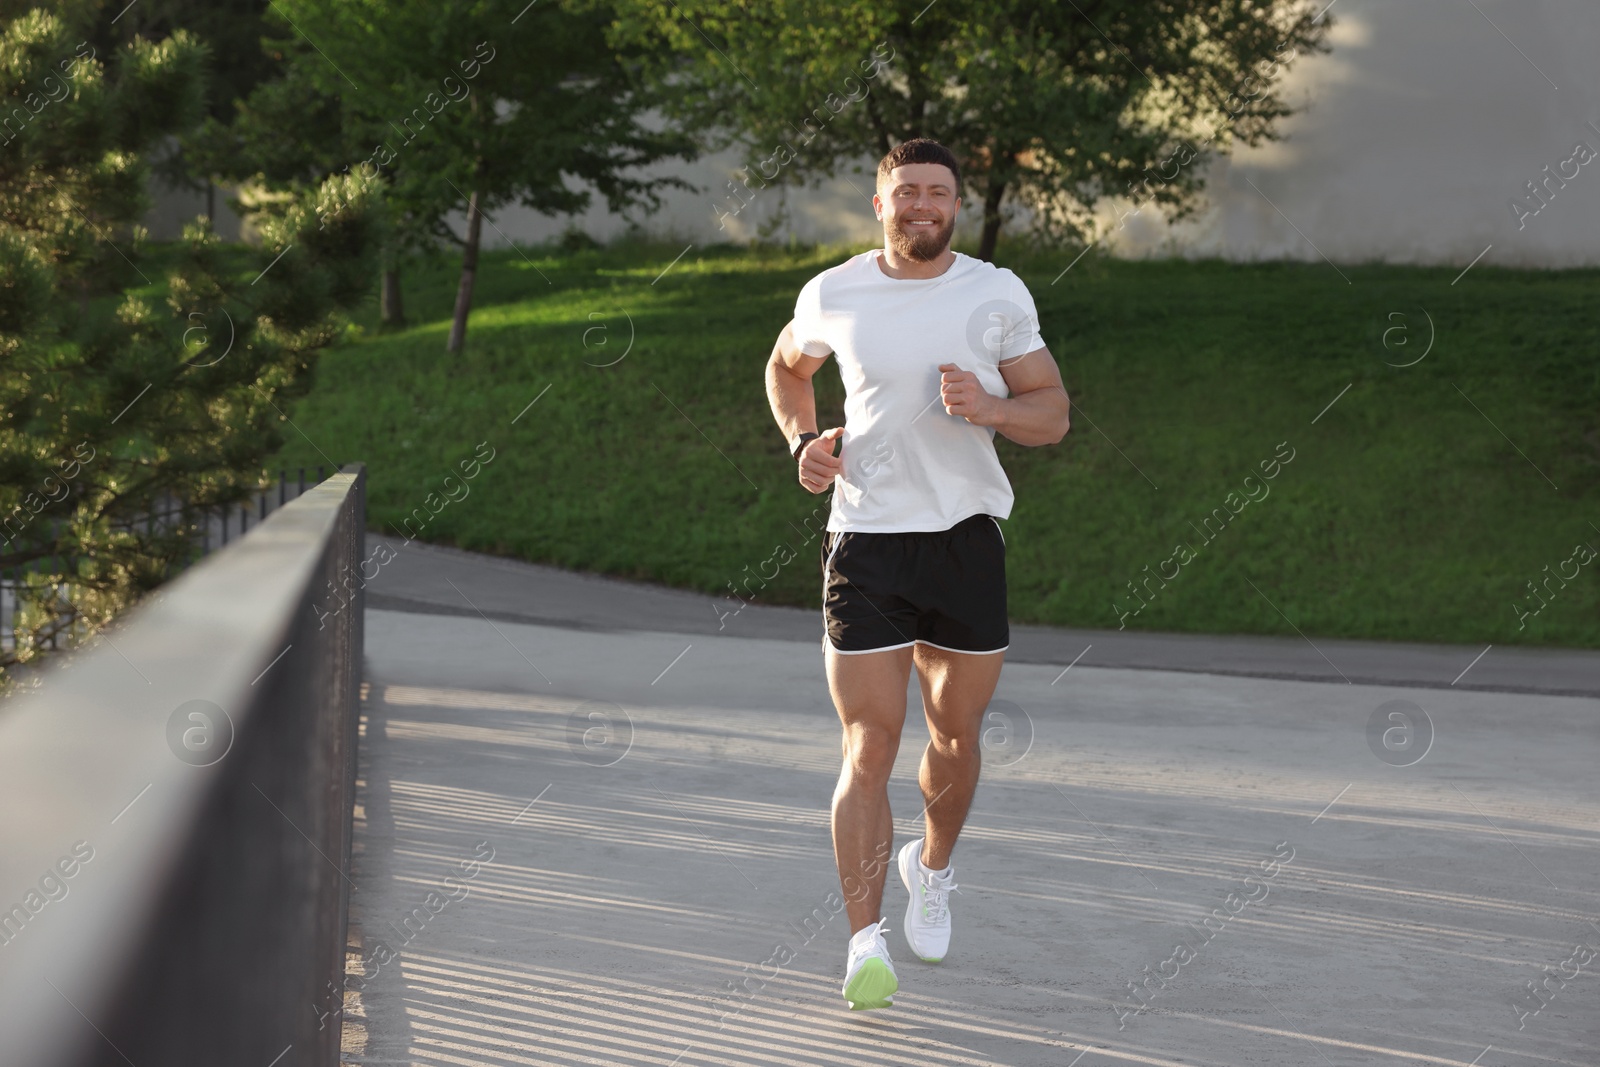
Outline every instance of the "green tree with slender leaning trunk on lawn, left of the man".
<path id="1" fill-rule="evenodd" d="M 688 187 L 629 173 L 686 158 L 693 141 L 643 122 L 640 61 L 608 45 L 603 3 L 277 0 L 272 10 L 307 42 L 294 93 L 338 101 L 346 144 L 362 146 L 338 166 L 387 182 L 406 248 L 461 248 L 448 352 L 466 341 L 485 213 L 514 202 L 582 211 L 592 194 L 576 182 L 613 211 L 656 208 L 661 189 Z M 306 141 L 307 155 L 328 147 L 293 122 L 277 133 Z M 462 206 L 458 235 L 446 216 Z"/>

